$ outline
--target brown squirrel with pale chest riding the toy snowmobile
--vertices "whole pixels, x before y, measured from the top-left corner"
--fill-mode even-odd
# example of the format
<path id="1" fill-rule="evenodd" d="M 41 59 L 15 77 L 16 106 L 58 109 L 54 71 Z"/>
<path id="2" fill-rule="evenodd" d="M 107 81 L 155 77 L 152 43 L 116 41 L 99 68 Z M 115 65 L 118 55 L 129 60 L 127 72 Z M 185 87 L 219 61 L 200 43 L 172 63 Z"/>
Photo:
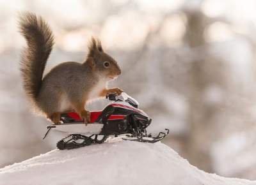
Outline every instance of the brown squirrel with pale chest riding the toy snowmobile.
<path id="1" fill-rule="evenodd" d="M 54 43 L 52 31 L 41 17 L 23 13 L 20 33 L 28 44 L 20 61 L 24 90 L 36 112 L 43 113 L 52 122 L 58 123 L 61 112 L 71 110 L 80 114 L 84 122 L 90 122 L 90 112 L 84 108 L 86 102 L 109 92 L 122 92 L 118 88 L 106 89 L 106 83 L 120 75 L 121 70 L 104 52 L 99 40 L 92 38 L 84 63 L 61 63 L 42 79 Z"/>

